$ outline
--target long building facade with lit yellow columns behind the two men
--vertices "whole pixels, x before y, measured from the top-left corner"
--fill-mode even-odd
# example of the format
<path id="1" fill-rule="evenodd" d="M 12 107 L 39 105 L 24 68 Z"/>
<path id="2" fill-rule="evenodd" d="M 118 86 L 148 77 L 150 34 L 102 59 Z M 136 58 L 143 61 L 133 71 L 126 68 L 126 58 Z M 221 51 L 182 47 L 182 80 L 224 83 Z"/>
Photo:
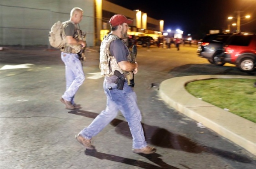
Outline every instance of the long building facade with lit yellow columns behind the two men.
<path id="1" fill-rule="evenodd" d="M 102 36 L 110 31 L 108 21 L 115 14 L 133 20 L 129 35 L 158 37 L 163 32 L 163 20 L 148 17 L 140 10 L 128 10 L 106 0 L 1 0 L 0 46 L 48 45 L 51 26 L 58 20 L 70 19 L 70 10 L 84 10 L 80 29 L 86 32 L 88 46 L 100 45 Z"/>

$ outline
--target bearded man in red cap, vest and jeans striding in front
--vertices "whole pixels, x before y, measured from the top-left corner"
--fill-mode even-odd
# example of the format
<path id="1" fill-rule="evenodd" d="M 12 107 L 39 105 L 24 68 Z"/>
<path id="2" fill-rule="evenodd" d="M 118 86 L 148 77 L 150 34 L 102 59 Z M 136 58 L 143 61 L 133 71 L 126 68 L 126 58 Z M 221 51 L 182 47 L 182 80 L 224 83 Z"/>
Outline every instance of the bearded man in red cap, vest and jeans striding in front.
<path id="1" fill-rule="evenodd" d="M 131 51 L 122 39 L 127 37 L 127 30 L 132 20 L 124 15 L 114 15 L 109 23 L 111 32 L 104 37 L 100 45 L 100 71 L 101 75 L 105 76 L 103 87 L 107 96 L 106 109 L 101 111 L 87 128 L 81 130 L 76 139 L 86 149 L 95 149 L 90 142 L 91 138 L 115 119 L 120 110 L 130 127 L 133 152 L 155 153 L 156 149 L 147 145 L 136 93 L 129 84 L 133 74 L 138 72 L 138 64 L 131 63 Z M 115 74 L 116 71 L 119 73 Z M 120 79 L 120 77 L 125 78 Z"/>

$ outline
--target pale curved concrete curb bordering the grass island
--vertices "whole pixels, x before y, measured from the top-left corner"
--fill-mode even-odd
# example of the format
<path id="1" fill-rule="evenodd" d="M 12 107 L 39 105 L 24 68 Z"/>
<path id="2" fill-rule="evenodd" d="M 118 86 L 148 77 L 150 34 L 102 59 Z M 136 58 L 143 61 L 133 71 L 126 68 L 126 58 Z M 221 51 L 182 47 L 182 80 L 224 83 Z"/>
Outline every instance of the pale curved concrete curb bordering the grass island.
<path id="1" fill-rule="evenodd" d="M 204 126 L 231 140 L 256 155 L 256 124 L 225 111 L 188 93 L 185 85 L 196 80 L 245 78 L 253 76 L 237 75 L 196 75 L 171 78 L 159 87 L 161 98 L 186 116 L 201 122 Z"/>

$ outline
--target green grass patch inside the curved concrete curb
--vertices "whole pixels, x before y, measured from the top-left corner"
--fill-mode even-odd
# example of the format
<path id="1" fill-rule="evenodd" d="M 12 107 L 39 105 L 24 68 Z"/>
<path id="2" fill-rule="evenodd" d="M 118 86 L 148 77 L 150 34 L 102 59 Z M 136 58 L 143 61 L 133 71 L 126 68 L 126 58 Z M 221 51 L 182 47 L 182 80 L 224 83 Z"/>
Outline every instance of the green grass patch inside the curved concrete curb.
<path id="1" fill-rule="evenodd" d="M 256 123 L 255 82 L 255 79 L 197 80 L 186 84 L 186 90 L 203 101 Z"/>

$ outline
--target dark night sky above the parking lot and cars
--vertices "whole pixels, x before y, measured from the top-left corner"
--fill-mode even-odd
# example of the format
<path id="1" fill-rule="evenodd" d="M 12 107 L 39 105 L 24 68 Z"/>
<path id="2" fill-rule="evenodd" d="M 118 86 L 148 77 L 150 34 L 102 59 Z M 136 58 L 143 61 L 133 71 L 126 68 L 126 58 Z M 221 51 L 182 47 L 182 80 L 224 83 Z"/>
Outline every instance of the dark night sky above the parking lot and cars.
<path id="1" fill-rule="evenodd" d="M 209 30 L 226 30 L 228 16 L 241 19 L 241 31 L 256 32 L 256 0 L 107 0 L 129 10 L 141 10 L 151 18 L 164 20 L 164 30 L 180 29 L 183 35 L 191 34 L 195 39 L 208 34 Z M 168 2 L 168 3 L 167 3 Z M 236 23 L 233 19 L 231 23 Z M 236 26 L 231 26 L 235 31 Z"/>

